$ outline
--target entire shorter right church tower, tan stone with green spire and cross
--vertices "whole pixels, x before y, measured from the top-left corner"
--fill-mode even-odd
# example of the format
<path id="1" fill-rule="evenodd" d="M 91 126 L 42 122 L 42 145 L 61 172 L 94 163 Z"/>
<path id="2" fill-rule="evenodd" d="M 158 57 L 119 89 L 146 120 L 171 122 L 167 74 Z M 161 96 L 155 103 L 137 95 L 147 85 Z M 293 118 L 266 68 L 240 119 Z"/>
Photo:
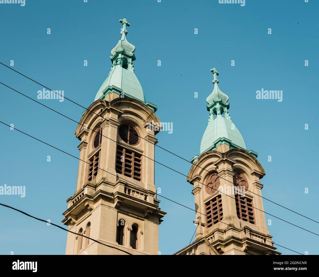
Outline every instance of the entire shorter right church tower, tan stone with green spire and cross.
<path id="1" fill-rule="evenodd" d="M 197 226 L 194 243 L 176 255 L 279 255 L 263 211 L 260 179 L 265 175 L 257 153 L 245 142 L 228 113 L 228 96 L 214 90 L 200 155 L 192 158 L 187 181 L 194 185 Z"/>

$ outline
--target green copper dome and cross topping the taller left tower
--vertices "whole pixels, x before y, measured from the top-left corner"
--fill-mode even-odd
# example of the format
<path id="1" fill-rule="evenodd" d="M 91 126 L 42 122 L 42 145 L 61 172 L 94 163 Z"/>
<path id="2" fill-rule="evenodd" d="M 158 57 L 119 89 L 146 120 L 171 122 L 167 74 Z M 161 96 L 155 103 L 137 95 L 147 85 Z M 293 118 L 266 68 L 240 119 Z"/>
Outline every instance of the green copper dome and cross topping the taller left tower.
<path id="1" fill-rule="evenodd" d="M 126 40 L 126 34 L 128 33 L 126 26 L 130 26 L 130 23 L 127 22 L 126 18 L 120 19 L 120 23 L 123 25 L 122 38 L 111 51 L 110 59 L 113 63 L 111 71 L 100 86 L 94 101 L 104 99 L 106 94 L 111 93 L 112 86 L 115 86 L 122 90 L 124 96 L 145 102 L 144 92 L 135 76 L 132 63 L 136 60 L 134 55 L 135 46 Z"/>

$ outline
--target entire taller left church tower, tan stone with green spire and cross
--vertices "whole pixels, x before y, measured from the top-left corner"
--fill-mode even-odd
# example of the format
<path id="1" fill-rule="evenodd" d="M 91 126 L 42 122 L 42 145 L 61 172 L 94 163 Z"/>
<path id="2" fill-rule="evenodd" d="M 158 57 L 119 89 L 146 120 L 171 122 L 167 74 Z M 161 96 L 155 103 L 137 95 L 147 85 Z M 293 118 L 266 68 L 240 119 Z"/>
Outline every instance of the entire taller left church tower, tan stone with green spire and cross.
<path id="1" fill-rule="evenodd" d="M 158 254 L 158 232 L 166 214 L 154 184 L 157 107 L 145 102 L 134 73 L 135 47 L 122 38 L 111 51 L 112 68 L 84 112 L 75 135 L 81 141 L 76 192 L 62 221 L 67 255 Z M 99 241 L 94 242 L 88 238 Z"/>

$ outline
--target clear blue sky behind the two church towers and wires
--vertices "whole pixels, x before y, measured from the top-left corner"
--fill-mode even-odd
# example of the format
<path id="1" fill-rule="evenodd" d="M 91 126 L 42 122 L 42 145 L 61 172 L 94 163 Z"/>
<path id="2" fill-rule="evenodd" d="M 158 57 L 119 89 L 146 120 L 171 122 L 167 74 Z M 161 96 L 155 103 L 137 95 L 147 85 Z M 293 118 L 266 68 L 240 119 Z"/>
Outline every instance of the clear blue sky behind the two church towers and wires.
<path id="1" fill-rule="evenodd" d="M 172 134 L 157 135 L 158 145 L 186 159 L 199 154 L 208 120 L 205 99 L 213 89 L 210 69 L 216 67 L 219 88 L 229 96 L 232 120 L 247 148 L 259 153 L 266 171 L 261 180 L 263 196 L 318 221 L 319 2 L 246 0 L 243 7 L 218 0 L 115 3 L 26 0 L 24 7 L 0 4 L 0 61 L 9 65 L 14 60 L 13 69 L 49 88 L 64 90 L 65 97 L 88 107 L 110 70 L 110 51 L 121 37 L 118 21 L 127 18 L 131 24 L 127 39 L 136 47 L 134 68 L 146 101 L 158 106 L 162 122 L 173 122 Z M 2 65 L 0 81 L 34 99 L 43 89 Z M 283 101 L 257 100 L 256 91 L 262 88 L 282 90 Z M 76 123 L 2 85 L 0 92 L 1 121 L 78 157 Z M 83 112 L 67 100 L 43 104 L 77 121 Z M 2 124 L 0 139 L 0 185 L 26 186 L 26 197 L 0 195 L 0 202 L 59 224 L 66 199 L 76 189 L 78 160 Z M 186 175 L 191 166 L 159 148 L 156 160 Z M 159 164 L 155 171 L 163 196 L 194 208 L 192 186 L 185 177 Z M 189 244 L 195 215 L 159 200 L 167 212 L 159 226 L 159 251 L 173 254 Z M 267 200 L 263 203 L 266 212 L 319 233 L 318 223 Z M 318 236 L 266 215 L 268 219 L 275 243 L 319 254 Z M 0 222 L 0 254 L 65 252 L 65 231 L 1 207 Z M 293 254 L 282 247 L 278 251 Z"/>

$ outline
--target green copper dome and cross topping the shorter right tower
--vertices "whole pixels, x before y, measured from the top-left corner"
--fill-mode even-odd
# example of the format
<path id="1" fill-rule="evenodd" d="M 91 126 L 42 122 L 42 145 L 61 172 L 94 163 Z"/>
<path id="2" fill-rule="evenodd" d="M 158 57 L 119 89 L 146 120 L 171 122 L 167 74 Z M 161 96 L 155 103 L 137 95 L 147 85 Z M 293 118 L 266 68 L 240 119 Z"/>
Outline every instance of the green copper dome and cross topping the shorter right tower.
<path id="1" fill-rule="evenodd" d="M 217 75 L 219 73 L 215 68 L 211 69 L 211 72 L 214 74 L 214 90 L 206 99 L 210 115 L 201 141 L 200 154 L 216 149 L 219 144 L 228 144 L 231 148 L 246 149 L 245 142 L 228 113 L 229 98 L 218 87 Z"/>

